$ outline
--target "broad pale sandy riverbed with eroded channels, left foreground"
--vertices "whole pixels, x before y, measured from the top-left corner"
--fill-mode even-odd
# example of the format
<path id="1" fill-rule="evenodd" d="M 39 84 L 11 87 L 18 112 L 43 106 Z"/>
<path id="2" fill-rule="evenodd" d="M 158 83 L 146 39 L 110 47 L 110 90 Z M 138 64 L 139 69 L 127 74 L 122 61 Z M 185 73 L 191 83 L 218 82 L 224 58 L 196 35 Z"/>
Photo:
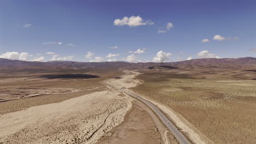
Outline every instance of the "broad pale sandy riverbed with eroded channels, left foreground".
<path id="1" fill-rule="evenodd" d="M 95 143 L 124 120 L 131 98 L 101 91 L 0 117 L 0 143 Z"/>

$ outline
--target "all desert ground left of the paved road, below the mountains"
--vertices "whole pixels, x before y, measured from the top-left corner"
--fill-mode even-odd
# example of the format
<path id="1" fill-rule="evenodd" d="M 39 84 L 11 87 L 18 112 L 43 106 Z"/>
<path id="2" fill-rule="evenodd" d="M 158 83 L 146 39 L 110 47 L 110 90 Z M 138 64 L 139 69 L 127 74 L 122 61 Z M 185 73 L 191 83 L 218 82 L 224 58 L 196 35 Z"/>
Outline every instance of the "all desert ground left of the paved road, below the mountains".
<path id="1" fill-rule="evenodd" d="M 172 136 L 147 106 L 105 84 L 137 86 L 117 79 L 126 71 L 63 71 L 1 74 L 0 142 L 164 143 Z"/>

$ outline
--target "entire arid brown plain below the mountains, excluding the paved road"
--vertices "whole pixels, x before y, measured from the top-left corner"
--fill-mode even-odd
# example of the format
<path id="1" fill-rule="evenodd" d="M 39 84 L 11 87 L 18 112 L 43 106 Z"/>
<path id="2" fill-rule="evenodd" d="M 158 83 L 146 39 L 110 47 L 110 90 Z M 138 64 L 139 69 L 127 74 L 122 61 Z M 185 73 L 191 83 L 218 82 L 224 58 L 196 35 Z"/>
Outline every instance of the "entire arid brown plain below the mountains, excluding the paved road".
<path id="1" fill-rule="evenodd" d="M 178 143 L 149 107 L 107 82 L 159 107 L 191 143 L 255 143 L 256 60 L 206 60 L 4 65 L 0 143 Z"/>

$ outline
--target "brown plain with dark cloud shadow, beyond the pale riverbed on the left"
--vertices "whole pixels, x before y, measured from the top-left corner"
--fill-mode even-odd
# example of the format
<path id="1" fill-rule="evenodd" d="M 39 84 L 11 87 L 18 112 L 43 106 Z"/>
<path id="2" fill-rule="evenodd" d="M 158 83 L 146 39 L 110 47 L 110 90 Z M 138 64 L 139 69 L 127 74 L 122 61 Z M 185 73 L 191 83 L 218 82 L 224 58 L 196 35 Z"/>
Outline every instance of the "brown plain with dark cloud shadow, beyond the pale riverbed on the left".
<path id="1" fill-rule="evenodd" d="M 117 74 L 122 73 L 92 68 L 0 69 L 0 116 L 103 91 L 106 87 L 102 81 Z"/>

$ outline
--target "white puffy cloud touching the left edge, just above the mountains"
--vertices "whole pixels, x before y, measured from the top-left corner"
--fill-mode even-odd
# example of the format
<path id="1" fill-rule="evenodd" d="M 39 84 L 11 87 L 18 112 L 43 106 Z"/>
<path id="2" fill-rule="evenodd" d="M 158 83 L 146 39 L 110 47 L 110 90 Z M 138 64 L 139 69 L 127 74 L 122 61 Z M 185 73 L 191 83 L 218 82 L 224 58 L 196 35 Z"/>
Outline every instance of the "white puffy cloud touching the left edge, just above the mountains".
<path id="1" fill-rule="evenodd" d="M 27 53 L 27 52 L 5 52 L 5 53 L 2 53 L 0 55 L 0 58 L 8 58 L 8 59 L 18 59 L 18 60 L 22 60 L 22 61 L 26 61 L 27 58 L 29 57 L 30 55 Z"/>

